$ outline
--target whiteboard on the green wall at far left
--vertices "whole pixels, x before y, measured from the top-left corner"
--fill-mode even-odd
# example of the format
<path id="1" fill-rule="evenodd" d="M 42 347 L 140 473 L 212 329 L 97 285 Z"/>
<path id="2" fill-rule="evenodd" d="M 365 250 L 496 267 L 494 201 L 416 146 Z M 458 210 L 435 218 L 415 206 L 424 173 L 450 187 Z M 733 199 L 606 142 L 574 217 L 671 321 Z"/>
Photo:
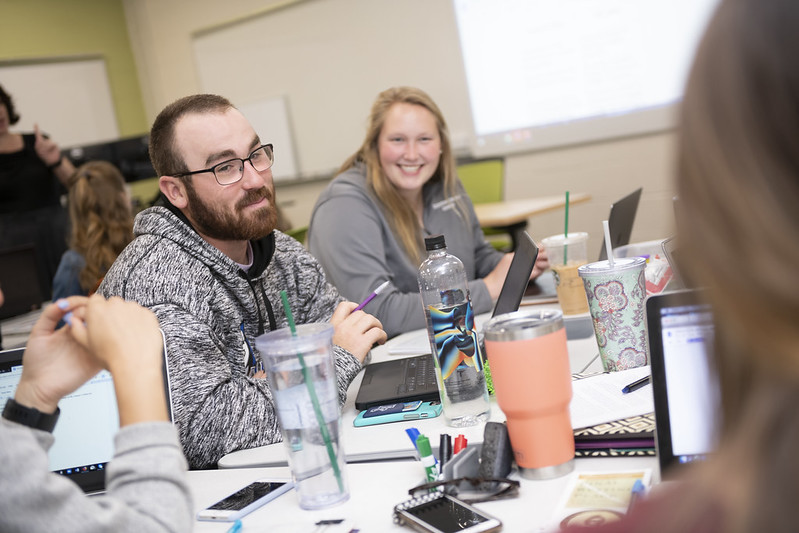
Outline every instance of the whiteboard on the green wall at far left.
<path id="1" fill-rule="evenodd" d="M 0 62 L 0 84 L 20 115 L 15 131 L 38 124 L 62 149 L 119 138 L 102 58 Z"/>

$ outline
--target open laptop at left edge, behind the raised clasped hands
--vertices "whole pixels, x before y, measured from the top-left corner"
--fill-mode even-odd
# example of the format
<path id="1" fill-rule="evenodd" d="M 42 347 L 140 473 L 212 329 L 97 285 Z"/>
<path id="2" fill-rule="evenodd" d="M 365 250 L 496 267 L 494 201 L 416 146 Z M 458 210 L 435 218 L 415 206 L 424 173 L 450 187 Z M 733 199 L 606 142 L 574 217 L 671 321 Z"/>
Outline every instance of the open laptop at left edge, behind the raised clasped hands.
<path id="1" fill-rule="evenodd" d="M 164 348 L 164 354 L 166 354 Z M 0 408 L 14 396 L 22 377 L 24 348 L 0 352 Z M 164 357 L 166 363 L 166 357 Z M 171 416 L 169 375 L 164 371 L 167 408 Z M 58 403 L 61 415 L 53 430 L 50 470 L 74 481 L 84 492 L 105 490 L 105 468 L 114 455 L 114 435 L 119 430 L 114 382 L 103 370 Z"/>

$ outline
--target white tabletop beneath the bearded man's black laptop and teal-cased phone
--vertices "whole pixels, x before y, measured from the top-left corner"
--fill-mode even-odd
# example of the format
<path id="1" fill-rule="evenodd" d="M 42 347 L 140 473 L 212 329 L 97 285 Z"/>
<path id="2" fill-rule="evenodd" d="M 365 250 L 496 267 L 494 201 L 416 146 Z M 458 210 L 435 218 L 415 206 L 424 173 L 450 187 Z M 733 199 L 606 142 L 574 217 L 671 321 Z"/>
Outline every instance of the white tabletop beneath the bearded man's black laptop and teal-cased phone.
<path id="1" fill-rule="evenodd" d="M 480 315 L 477 320 L 478 326 L 481 326 L 481 322 L 484 322 L 487 318 L 488 315 Z M 418 345 L 417 341 L 421 341 L 422 346 L 427 345 L 427 333 L 424 330 L 404 333 L 391 339 L 386 345 L 375 348 L 372 350 L 372 361 L 378 362 L 390 358 L 408 357 L 409 355 L 407 354 L 390 355 L 389 347 L 398 343 Z M 602 364 L 599 358 L 595 358 L 598 354 L 598 349 L 593 336 L 568 341 L 568 349 L 572 372 L 602 371 Z M 355 409 L 355 396 L 358 394 L 362 379 L 363 372 L 359 373 L 350 384 L 347 391 L 347 401 L 342 408 L 341 439 L 348 463 L 414 458 L 416 450 L 405 433 L 405 429 L 408 427 L 416 427 L 421 433 L 428 435 L 434 453 L 438 453 L 438 436 L 441 433 L 449 433 L 453 437 L 463 434 L 469 445 L 479 446 L 482 444 L 483 424 L 469 428 L 453 428 L 446 425 L 443 416 L 428 420 L 395 422 L 360 428 L 354 427 L 353 420 L 358 414 Z M 491 420 L 495 422 L 505 421 L 505 415 L 497 406 L 494 398 L 491 400 Z M 219 461 L 220 468 L 285 466 L 287 464 L 285 445 L 282 442 L 233 452 L 225 455 Z"/>

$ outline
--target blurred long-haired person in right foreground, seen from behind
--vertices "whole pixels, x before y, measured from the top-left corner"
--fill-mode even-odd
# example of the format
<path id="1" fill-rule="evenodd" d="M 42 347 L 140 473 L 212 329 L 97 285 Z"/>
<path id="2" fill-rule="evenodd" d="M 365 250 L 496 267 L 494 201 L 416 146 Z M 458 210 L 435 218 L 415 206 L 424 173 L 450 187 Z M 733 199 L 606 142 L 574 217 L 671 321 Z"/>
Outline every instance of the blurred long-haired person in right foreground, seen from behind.
<path id="1" fill-rule="evenodd" d="M 799 528 L 797 24 L 794 0 L 723 0 L 682 103 L 681 264 L 709 287 L 717 319 L 718 452 L 589 531 Z M 742 268 L 742 248 L 755 268 Z"/>

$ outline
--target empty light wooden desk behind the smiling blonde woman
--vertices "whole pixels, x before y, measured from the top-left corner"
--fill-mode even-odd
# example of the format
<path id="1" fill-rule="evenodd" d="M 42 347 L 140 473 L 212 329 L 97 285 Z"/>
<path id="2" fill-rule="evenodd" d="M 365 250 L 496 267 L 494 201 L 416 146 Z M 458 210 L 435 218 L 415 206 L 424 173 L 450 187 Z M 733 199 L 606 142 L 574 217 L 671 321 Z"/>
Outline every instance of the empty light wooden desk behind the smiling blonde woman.
<path id="1" fill-rule="evenodd" d="M 575 193 L 569 195 L 569 205 L 580 204 L 591 199 L 590 194 Z M 484 228 L 499 228 L 507 231 L 516 249 L 521 233 L 527 228 L 527 219 L 566 206 L 566 196 L 540 196 L 538 198 L 521 198 L 504 202 L 475 204 L 474 211 L 480 225 Z"/>

